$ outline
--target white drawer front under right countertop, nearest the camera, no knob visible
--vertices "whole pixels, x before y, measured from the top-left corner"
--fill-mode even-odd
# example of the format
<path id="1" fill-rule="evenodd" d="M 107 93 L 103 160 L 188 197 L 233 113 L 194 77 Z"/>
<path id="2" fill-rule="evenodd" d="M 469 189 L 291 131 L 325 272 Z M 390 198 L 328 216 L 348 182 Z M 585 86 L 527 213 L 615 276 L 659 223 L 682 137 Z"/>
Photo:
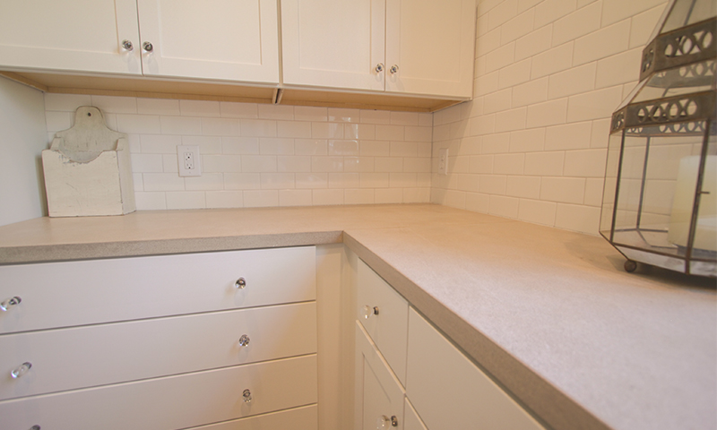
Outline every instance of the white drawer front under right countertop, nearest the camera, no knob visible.
<path id="1" fill-rule="evenodd" d="M 406 395 L 430 430 L 542 429 L 413 308 L 406 382 Z"/>

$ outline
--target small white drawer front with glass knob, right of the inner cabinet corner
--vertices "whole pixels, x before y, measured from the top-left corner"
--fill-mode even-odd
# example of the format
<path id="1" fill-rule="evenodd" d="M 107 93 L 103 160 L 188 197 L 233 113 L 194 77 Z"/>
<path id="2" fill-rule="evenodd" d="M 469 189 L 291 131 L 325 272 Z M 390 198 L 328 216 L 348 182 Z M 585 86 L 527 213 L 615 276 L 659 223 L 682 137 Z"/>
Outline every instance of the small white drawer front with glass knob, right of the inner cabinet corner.
<path id="1" fill-rule="evenodd" d="M 371 339 L 376 342 L 378 350 L 398 376 L 399 381 L 405 386 L 409 304 L 360 260 L 357 289 L 358 320 Z M 371 314 L 374 308 L 377 308 L 378 314 Z"/>

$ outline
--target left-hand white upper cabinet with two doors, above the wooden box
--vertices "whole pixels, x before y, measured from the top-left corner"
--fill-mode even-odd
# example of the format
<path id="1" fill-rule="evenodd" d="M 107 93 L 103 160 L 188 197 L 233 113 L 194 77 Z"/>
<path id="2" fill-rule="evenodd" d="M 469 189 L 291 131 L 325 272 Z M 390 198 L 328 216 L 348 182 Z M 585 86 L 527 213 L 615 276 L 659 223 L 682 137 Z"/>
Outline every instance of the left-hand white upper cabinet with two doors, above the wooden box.
<path id="1" fill-rule="evenodd" d="M 275 0 L 7 0 L 0 65 L 279 82 Z"/>

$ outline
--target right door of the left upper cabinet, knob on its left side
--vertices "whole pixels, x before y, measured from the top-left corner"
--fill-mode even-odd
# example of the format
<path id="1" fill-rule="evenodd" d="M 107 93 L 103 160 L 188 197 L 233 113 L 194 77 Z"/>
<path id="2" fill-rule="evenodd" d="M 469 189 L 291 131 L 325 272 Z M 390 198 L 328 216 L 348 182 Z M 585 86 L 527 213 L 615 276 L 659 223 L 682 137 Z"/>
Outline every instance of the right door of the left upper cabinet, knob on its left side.
<path id="1" fill-rule="evenodd" d="M 145 76 L 279 82 L 276 0 L 137 4 Z"/>

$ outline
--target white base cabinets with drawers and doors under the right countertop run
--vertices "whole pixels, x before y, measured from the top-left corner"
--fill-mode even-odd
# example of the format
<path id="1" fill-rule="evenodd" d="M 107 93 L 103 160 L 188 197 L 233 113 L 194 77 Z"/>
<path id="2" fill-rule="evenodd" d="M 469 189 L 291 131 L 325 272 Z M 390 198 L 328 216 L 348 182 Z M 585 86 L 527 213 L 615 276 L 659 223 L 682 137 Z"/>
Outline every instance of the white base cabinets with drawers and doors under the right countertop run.
<path id="1" fill-rule="evenodd" d="M 543 429 L 364 262 L 357 277 L 356 430 Z"/>

